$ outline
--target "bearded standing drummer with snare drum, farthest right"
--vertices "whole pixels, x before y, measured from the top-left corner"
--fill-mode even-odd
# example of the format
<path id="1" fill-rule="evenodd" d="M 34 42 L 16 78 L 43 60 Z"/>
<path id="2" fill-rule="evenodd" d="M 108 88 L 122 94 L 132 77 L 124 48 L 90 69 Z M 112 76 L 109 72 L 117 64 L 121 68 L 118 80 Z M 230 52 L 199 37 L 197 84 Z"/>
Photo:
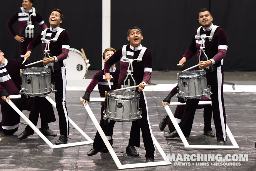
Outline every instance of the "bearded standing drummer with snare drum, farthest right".
<path id="1" fill-rule="evenodd" d="M 211 86 L 211 101 L 213 109 L 213 120 L 216 129 L 217 145 L 226 145 L 227 133 L 226 133 L 226 113 L 224 107 L 223 98 L 223 58 L 227 53 L 227 35 L 226 32 L 219 26 L 215 26 L 212 23 L 213 17 L 209 9 L 202 8 L 198 12 L 199 23 L 202 25 L 197 29 L 197 32 L 193 35 L 190 46 L 180 60 L 180 64 L 184 66 L 186 60 L 193 57 L 197 53 L 197 63 L 199 63 L 200 46 L 202 39 L 206 36 L 212 36 L 205 38 L 205 54 L 211 61 L 206 61 L 206 56 L 201 56 L 199 66 L 201 69 L 206 69 L 207 85 Z M 201 51 L 202 52 L 202 51 Z M 214 67 L 211 67 L 214 66 Z M 193 118 L 198 105 L 199 99 L 187 99 L 187 105 L 189 108 L 185 108 L 182 121 L 180 122 L 180 128 L 185 136 L 189 136 L 191 131 Z M 186 122 L 187 121 L 187 122 Z"/>

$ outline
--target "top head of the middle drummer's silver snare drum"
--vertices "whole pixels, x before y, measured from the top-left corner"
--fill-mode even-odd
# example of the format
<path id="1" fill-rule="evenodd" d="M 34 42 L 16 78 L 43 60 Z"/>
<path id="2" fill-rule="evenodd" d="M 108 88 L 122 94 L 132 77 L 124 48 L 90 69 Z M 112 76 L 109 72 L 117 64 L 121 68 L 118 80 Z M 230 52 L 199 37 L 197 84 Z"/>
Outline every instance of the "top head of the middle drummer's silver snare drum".
<path id="1" fill-rule="evenodd" d="M 130 90 L 111 90 L 108 92 L 108 96 L 116 99 L 137 99 L 139 93 Z"/>

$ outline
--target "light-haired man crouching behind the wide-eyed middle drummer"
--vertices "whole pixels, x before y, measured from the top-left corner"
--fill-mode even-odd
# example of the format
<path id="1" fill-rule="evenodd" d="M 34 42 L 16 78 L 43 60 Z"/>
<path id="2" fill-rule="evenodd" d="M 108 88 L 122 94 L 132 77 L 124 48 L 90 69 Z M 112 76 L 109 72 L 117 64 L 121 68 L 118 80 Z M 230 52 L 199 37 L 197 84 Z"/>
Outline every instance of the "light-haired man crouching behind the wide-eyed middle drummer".
<path id="1" fill-rule="evenodd" d="M 112 47 L 106 48 L 103 52 L 102 58 L 103 58 L 103 62 L 106 63 L 106 61 L 116 52 L 116 50 Z M 110 80 L 110 85 L 111 85 L 111 90 L 114 90 L 114 88 L 117 86 L 117 81 L 118 81 L 118 77 L 119 77 L 119 69 L 116 69 L 116 64 L 113 64 L 110 69 L 110 76 L 111 76 L 111 80 Z M 94 89 L 94 87 L 98 84 L 98 89 L 99 89 L 99 93 L 100 93 L 100 97 L 104 97 L 105 96 L 105 91 L 109 91 L 109 84 L 108 82 L 106 82 L 104 80 L 105 75 L 104 75 L 104 69 L 97 72 L 90 84 L 88 85 L 88 87 L 86 88 L 85 94 L 81 99 L 81 103 L 83 105 L 87 105 L 87 103 L 90 101 L 90 94 L 92 92 L 92 90 Z M 109 143 L 111 145 L 113 145 L 113 127 L 115 122 L 111 121 L 109 124 L 105 124 L 104 125 L 104 119 L 103 119 L 103 115 L 104 115 L 104 105 L 105 102 L 101 102 L 101 111 L 100 111 L 100 127 L 102 128 L 103 132 L 105 133 L 107 139 L 109 140 Z M 100 134 L 96 133 L 94 141 L 93 141 L 93 148 L 91 148 L 90 151 L 88 151 L 87 155 L 88 156 L 92 156 L 97 154 L 98 152 L 107 152 L 107 148 L 104 146 L 103 140 L 100 136 Z"/>

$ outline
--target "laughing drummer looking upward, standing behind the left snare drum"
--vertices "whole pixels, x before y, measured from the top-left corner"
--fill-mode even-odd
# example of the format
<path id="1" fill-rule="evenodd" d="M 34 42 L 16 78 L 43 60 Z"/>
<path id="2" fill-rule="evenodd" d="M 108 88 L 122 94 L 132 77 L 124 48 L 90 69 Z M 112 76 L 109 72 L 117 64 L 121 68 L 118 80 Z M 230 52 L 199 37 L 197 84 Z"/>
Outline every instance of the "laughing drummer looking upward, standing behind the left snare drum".
<path id="1" fill-rule="evenodd" d="M 42 32 L 38 33 L 35 39 L 29 43 L 27 47 L 27 53 L 24 55 L 25 58 L 29 58 L 32 50 L 42 42 L 43 51 L 45 51 L 45 47 L 47 46 L 47 42 L 51 39 L 49 44 L 50 54 L 44 55 L 43 64 L 48 65 L 51 69 L 51 81 L 55 83 L 55 101 L 56 101 L 56 108 L 59 115 L 59 124 L 60 124 L 60 138 L 55 142 L 56 145 L 58 144 L 66 144 L 68 139 L 67 136 L 69 135 L 69 121 L 68 121 L 68 112 L 66 108 L 66 69 L 65 69 L 65 59 L 69 53 L 69 44 L 70 38 L 69 33 L 60 28 L 60 24 L 63 22 L 63 15 L 60 9 L 53 9 L 50 13 L 49 17 L 50 28 L 45 29 Z M 41 40 L 44 39 L 43 41 Z M 47 51 L 45 51 L 45 54 Z M 49 56 L 56 56 L 52 59 L 47 59 Z M 37 104 L 42 102 L 43 97 L 37 96 L 35 99 L 38 100 Z M 38 113 L 33 114 L 30 118 L 32 118 L 32 123 L 36 125 L 38 121 Z M 29 118 L 29 119 L 30 119 Z M 32 131 L 32 128 L 27 126 L 26 130 L 28 132 Z M 24 136 L 28 136 L 26 134 Z"/>

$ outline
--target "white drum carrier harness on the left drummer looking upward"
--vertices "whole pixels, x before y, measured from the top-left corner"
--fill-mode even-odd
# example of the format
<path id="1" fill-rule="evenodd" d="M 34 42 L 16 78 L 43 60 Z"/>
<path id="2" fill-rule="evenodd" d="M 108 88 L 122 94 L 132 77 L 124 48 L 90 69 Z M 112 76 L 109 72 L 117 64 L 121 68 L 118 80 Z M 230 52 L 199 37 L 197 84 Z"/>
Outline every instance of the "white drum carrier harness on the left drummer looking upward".
<path id="1" fill-rule="evenodd" d="M 50 43 L 50 41 L 53 41 L 53 42 L 56 42 L 57 40 L 58 40 L 58 38 L 59 38 L 59 36 L 60 36 L 60 33 L 62 32 L 62 31 L 64 31 L 65 29 L 59 29 L 58 31 L 57 31 L 57 33 L 56 33 L 56 35 L 54 36 L 54 38 L 53 39 L 50 39 L 50 40 L 47 40 L 47 39 L 45 39 L 45 37 L 46 37 L 46 32 L 47 32 L 47 30 L 48 30 L 49 28 L 47 28 L 47 29 L 45 29 L 44 31 L 43 31 L 43 36 L 42 36 L 42 38 L 41 38 L 41 40 L 42 41 L 45 41 L 46 42 L 46 46 L 45 46 L 45 58 L 46 57 L 48 57 L 48 58 L 50 58 L 51 56 L 50 56 L 50 46 L 49 46 L 49 43 Z M 52 70 L 52 72 L 54 72 L 54 63 L 48 63 L 47 64 L 47 66 Z M 56 62 L 55 63 L 55 68 L 56 69 L 59 69 L 60 68 L 60 63 L 59 62 Z M 55 70 L 56 70 L 55 69 Z"/>

